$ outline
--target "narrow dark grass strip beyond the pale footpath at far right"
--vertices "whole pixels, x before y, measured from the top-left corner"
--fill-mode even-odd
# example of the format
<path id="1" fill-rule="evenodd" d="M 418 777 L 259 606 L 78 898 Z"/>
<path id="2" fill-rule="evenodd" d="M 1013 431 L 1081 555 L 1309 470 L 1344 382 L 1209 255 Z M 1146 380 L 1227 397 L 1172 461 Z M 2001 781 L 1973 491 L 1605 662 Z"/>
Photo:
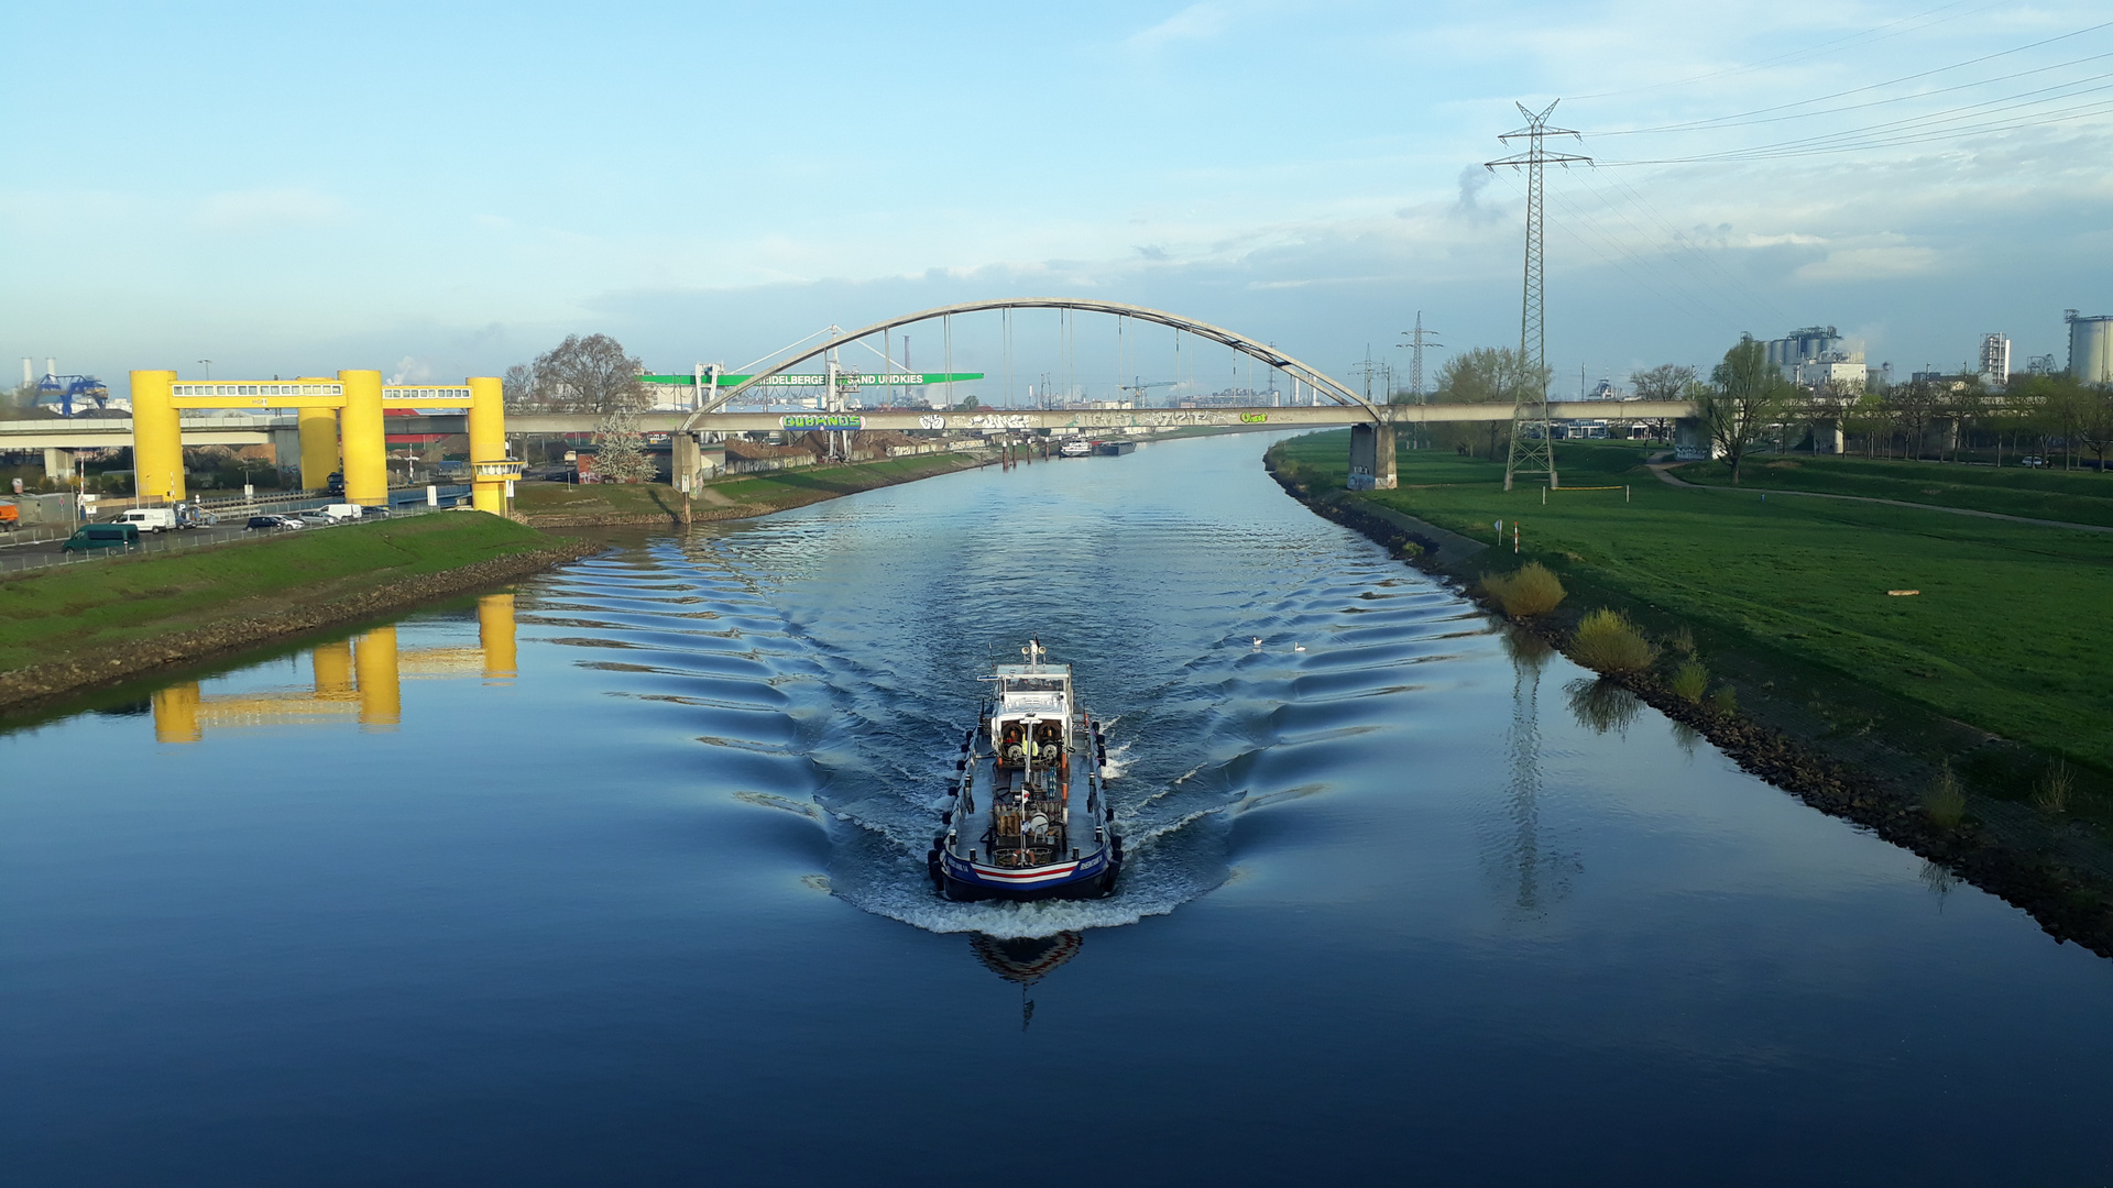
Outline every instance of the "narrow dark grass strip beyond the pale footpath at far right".
<path id="1" fill-rule="evenodd" d="M 1724 463 L 1690 463 L 1678 474 L 1686 482 L 1731 484 L 1731 467 Z M 1739 486 L 1868 495 L 2035 520 L 2113 524 L 2113 474 L 2096 471 L 1758 454 L 1741 467 Z"/>

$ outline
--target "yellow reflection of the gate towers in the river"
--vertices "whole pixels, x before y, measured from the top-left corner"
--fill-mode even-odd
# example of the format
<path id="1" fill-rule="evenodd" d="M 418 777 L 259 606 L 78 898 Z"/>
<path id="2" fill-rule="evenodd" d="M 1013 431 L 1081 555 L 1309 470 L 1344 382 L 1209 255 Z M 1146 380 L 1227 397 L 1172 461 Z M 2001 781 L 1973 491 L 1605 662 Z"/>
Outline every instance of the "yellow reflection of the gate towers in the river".
<path id="1" fill-rule="evenodd" d="M 357 721 L 361 729 L 395 729 L 404 721 L 404 679 L 482 676 L 505 683 L 518 674 L 513 660 L 513 594 L 478 598 L 478 647 L 397 647 L 395 626 L 349 641 L 317 645 L 308 653 L 313 689 L 260 689 L 201 693 L 182 681 L 154 693 L 156 742 L 203 742 L 211 729 L 273 725 L 332 725 Z"/>

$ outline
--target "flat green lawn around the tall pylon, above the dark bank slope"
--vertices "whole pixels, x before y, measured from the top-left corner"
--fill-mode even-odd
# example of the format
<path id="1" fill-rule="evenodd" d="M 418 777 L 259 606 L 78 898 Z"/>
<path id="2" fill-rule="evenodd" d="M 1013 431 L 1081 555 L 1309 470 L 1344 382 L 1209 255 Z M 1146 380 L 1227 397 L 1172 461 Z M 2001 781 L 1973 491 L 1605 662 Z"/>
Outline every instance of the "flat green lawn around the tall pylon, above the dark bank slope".
<path id="1" fill-rule="evenodd" d="M 1346 431 L 1297 438 L 1280 450 L 1316 486 L 1342 484 Z M 1564 490 L 1542 503 L 1538 484 L 1504 493 L 1498 463 L 1403 450 L 1401 488 L 1367 499 L 1481 541 L 1504 520 L 1509 543 L 1517 520 L 1530 558 L 1572 586 L 1633 600 L 1661 624 L 1695 624 L 2113 769 L 2113 681 L 2105 670 L 2113 535 L 1834 499 L 1762 499 L 1758 484 L 1743 495 L 1680 490 L 1659 482 L 1642 465 L 1644 450 L 1629 444 L 1566 442 L 1557 461 Z M 1790 482 L 1807 471 L 1824 467 L 1769 474 Z M 2033 486 L 2050 478 L 2105 482 L 2016 474 Z M 1857 471 L 1843 467 L 1840 476 Z M 1581 490 L 1621 484 L 1629 501 L 1621 490 Z M 2045 497 L 2035 512 L 2045 518 L 2086 520 L 2094 512 L 2090 497 L 2028 495 Z M 1509 547 L 1483 556 L 1488 569 L 1515 564 Z"/>

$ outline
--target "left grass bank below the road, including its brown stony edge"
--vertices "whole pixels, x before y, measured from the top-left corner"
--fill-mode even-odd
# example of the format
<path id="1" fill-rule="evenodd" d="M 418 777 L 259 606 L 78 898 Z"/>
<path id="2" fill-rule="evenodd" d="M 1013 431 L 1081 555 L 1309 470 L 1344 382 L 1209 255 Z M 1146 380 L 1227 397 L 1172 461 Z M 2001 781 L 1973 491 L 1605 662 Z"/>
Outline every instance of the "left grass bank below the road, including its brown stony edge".
<path id="1" fill-rule="evenodd" d="M 509 581 L 581 552 L 463 512 L 15 577 L 0 583 L 0 710 Z"/>

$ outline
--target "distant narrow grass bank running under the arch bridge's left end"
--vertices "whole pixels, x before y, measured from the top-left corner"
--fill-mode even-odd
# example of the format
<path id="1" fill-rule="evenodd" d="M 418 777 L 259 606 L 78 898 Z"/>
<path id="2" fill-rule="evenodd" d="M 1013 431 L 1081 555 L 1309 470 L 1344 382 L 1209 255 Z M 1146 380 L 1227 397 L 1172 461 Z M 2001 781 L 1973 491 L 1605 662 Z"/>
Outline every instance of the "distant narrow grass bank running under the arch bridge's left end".
<path id="1" fill-rule="evenodd" d="M 873 463 L 773 469 L 706 482 L 689 499 L 691 520 L 742 520 L 860 490 L 915 482 L 957 469 L 974 469 L 987 459 L 974 454 L 919 454 Z M 528 482 L 516 486 L 513 512 L 532 526 L 562 528 L 587 524 L 680 524 L 682 493 L 661 482 L 564 484 Z"/>

